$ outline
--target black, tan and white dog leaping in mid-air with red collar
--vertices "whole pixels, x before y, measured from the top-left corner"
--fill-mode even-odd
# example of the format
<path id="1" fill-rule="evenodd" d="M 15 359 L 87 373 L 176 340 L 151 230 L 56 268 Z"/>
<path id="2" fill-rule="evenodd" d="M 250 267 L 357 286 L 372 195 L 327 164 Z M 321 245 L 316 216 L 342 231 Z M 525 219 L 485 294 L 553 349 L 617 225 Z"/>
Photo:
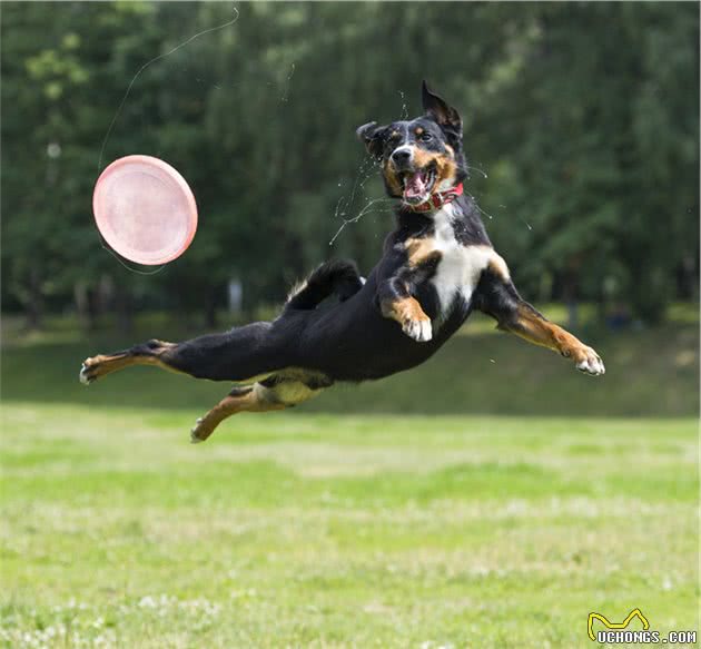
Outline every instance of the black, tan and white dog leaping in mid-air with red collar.
<path id="1" fill-rule="evenodd" d="M 206 440 L 239 412 L 280 410 L 336 381 L 382 378 L 432 356 L 473 308 L 504 331 L 570 358 L 588 374 L 601 358 L 543 317 L 519 295 L 463 195 L 467 177 L 457 111 L 423 86 L 426 115 L 361 127 L 358 137 L 382 164 L 387 194 L 397 199 L 396 229 L 364 282 L 355 265 L 320 266 L 287 301 L 279 317 L 182 343 L 149 341 L 87 358 L 80 380 L 130 365 L 156 365 L 236 387 L 197 421 L 192 442 Z M 337 302 L 319 304 L 329 296 Z"/>

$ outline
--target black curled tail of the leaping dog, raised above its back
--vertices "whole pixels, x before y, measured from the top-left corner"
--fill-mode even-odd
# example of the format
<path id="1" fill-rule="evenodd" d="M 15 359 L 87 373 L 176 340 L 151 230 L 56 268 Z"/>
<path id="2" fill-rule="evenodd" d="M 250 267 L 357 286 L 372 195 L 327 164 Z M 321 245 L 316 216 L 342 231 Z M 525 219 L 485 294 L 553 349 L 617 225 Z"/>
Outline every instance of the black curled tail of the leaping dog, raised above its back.
<path id="1" fill-rule="evenodd" d="M 335 294 L 340 302 L 355 295 L 365 284 L 354 262 L 337 260 L 322 264 L 306 282 L 290 292 L 285 311 L 312 309 L 326 297 Z"/>

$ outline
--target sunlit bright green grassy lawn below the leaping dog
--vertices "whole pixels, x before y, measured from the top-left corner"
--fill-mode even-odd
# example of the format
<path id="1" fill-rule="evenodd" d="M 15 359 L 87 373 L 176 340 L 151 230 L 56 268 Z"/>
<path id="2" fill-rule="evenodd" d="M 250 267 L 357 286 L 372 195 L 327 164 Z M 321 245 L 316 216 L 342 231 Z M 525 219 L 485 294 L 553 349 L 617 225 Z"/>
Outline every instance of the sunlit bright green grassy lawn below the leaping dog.
<path id="1" fill-rule="evenodd" d="M 198 414 L 4 404 L 2 646 L 572 648 L 634 607 L 698 629 L 692 419 L 293 412 L 191 446 Z"/>

